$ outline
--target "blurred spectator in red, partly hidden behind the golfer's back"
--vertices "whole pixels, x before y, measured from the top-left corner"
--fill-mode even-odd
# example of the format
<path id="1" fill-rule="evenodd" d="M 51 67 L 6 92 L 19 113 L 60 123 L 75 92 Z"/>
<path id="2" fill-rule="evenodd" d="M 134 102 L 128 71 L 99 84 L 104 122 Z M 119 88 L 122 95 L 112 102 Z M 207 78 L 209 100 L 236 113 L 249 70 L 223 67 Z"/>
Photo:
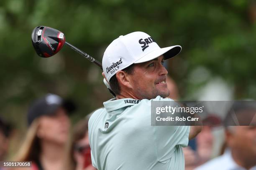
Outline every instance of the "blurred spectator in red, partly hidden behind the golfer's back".
<path id="1" fill-rule="evenodd" d="M 72 138 L 72 155 L 76 170 L 96 170 L 92 166 L 91 148 L 88 135 L 88 120 L 80 120 L 74 127 Z"/>

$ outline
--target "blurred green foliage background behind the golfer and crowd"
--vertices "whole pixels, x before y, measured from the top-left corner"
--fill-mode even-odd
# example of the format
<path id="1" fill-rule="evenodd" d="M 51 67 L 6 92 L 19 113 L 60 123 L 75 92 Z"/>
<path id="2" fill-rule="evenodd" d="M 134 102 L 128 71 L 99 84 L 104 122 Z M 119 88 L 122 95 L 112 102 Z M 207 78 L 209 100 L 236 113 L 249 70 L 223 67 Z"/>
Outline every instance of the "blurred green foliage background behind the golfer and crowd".
<path id="1" fill-rule="evenodd" d="M 235 99 L 256 97 L 256 2 L 253 0 L 1 0 L 0 115 L 26 127 L 28 105 L 47 92 L 74 99 L 73 121 L 112 97 L 97 66 L 69 47 L 45 59 L 36 55 L 31 32 L 38 25 L 61 30 L 68 42 L 101 61 L 119 35 L 144 31 L 161 47 L 182 45 L 169 61 L 182 99 L 212 77 L 234 87 Z M 204 68 L 210 75 L 191 80 Z M 200 76 L 200 75 L 198 75 Z"/>

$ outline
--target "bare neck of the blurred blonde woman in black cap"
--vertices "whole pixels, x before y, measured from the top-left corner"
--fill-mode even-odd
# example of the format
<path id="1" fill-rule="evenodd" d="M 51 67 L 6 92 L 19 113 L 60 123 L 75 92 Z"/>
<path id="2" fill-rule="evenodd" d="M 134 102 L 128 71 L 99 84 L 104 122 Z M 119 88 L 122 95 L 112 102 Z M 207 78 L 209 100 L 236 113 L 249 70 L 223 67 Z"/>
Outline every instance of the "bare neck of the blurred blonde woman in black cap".
<path id="1" fill-rule="evenodd" d="M 55 169 L 61 170 L 63 168 L 64 159 L 65 159 L 65 145 L 59 145 L 57 143 L 51 143 L 48 141 L 41 142 L 41 154 L 40 154 L 40 163 L 41 165 L 48 170 Z"/>

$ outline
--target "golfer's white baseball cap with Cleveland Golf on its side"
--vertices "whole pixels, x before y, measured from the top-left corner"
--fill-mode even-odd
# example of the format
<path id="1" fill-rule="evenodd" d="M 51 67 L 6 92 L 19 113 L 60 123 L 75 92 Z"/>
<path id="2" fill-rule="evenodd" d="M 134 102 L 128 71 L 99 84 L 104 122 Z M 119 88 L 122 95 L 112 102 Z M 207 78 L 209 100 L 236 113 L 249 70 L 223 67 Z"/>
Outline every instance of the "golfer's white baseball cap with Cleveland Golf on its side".
<path id="1" fill-rule="evenodd" d="M 179 54 L 182 47 L 174 45 L 160 48 L 155 40 L 145 32 L 121 35 L 108 45 L 102 58 L 103 72 L 109 82 L 119 70 L 132 65 L 153 60 L 164 55 L 164 60 Z"/>

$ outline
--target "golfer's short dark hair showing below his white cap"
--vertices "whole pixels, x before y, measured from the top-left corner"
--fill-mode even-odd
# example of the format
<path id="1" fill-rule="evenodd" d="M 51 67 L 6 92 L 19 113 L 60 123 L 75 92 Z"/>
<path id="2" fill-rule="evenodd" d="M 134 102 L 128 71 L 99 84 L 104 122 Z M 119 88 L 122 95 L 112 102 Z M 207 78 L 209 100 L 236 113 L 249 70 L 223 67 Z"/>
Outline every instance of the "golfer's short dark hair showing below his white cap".
<path id="1" fill-rule="evenodd" d="M 128 74 L 133 74 L 133 68 L 134 68 L 134 64 L 126 67 L 122 71 L 124 71 Z M 111 90 L 115 93 L 115 95 L 120 95 L 121 88 L 120 88 L 120 85 L 119 85 L 116 75 L 113 75 L 113 77 L 110 78 L 109 85 L 111 87 Z"/>

